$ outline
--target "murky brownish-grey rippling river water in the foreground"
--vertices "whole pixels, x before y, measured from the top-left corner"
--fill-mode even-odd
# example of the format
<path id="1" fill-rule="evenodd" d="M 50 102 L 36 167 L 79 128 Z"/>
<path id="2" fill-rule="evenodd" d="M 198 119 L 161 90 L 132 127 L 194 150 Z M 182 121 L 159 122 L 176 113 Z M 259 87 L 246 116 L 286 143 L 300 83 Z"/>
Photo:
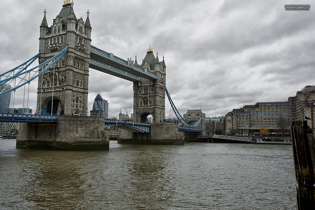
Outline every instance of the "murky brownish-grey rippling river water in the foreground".
<path id="1" fill-rule="evenodd" d="M 0 140 L 0 209 L 294 210 L 290 145 L 17 150 Z"/>

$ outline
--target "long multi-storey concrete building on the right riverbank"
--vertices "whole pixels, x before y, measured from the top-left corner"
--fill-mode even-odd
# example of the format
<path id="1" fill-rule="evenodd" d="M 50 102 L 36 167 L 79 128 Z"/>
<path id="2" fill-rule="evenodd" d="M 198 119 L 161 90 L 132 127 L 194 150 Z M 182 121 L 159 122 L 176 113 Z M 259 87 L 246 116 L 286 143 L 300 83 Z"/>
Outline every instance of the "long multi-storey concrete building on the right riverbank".
<path id="1" fill-rule="evenodd" d="M 252 135 L 266 127 L 269 133 L 289 132 L 291 121 L 310 118 L 308 124 L 315 132 L 315 86 L 306 86 L 287 101 L 257 102 L 233 109 L 225 115 L 226 134 Z"/>

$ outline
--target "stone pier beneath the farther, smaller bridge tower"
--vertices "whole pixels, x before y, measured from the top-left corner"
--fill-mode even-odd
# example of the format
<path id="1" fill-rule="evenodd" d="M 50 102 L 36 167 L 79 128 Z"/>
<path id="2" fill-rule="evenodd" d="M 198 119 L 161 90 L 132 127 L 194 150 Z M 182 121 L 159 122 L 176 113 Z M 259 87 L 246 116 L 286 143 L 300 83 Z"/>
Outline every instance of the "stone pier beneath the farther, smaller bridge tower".
<path id="1" fill-rule="evenodd" d="M 119 144 L 184 145 L 184 135 L 176 124 L 151 124 L 149 133 L 133 133 L 132 138 L 118 139 Z"/>

